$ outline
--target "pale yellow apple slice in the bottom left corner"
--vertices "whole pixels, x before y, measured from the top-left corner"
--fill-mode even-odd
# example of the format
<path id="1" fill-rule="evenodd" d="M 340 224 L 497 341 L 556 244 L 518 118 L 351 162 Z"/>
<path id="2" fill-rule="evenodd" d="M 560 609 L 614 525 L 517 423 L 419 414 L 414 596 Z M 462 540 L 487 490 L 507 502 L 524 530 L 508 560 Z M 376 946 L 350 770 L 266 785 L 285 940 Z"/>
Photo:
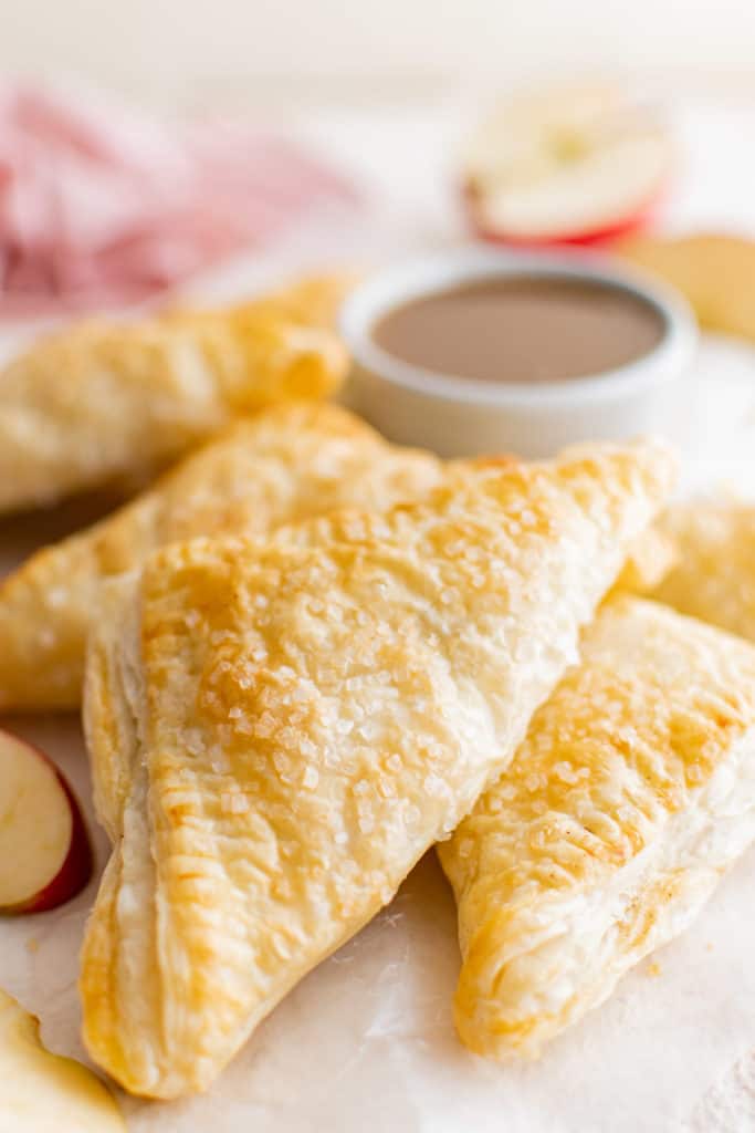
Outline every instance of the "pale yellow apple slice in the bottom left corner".
<path id="1" fill-rule="evenodd" d="M 72 1058 L 46 1050 L 40 1024 L 0 990 L 0 1130 L 2 1133 L 125 1133 L 115 1099 Z"/>

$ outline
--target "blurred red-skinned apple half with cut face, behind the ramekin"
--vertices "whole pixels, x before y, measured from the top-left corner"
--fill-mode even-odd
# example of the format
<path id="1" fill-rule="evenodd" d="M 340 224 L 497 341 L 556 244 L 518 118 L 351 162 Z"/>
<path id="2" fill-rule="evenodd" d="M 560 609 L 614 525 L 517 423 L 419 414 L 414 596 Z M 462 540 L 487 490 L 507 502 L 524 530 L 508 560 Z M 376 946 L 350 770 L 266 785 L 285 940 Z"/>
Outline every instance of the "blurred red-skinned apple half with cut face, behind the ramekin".
<path id="1" fill-rule="evenodd" d="M 661 118 L 623 87 L 551 87 L 504 103 L 470 139 L 464 198 L 486 239 L 591 244 L 646 219 L 672 156 Z"/>

